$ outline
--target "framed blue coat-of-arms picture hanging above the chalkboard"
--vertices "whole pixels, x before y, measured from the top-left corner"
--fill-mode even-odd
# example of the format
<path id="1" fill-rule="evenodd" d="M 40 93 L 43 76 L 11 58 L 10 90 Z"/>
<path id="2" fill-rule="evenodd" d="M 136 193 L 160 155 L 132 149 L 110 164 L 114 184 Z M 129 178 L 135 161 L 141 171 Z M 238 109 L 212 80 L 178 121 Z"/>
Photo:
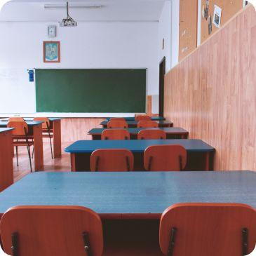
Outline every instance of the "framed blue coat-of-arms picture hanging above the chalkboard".
<path id="1" fill-rule="evenodd" d="M 60 62 L 60 41 L 43 42 L 43 62 Z"/>

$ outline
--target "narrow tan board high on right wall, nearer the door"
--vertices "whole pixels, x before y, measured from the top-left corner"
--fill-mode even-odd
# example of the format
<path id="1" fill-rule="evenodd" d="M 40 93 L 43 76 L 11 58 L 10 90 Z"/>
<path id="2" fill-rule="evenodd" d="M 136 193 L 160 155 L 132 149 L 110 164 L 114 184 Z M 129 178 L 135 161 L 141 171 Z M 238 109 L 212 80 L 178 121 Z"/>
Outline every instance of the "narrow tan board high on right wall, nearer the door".
<path id="1" fill-rule="evenodd" d="M 179 60 L 191 53 L 197 45 L 198 0 L 180 0 Z"/>

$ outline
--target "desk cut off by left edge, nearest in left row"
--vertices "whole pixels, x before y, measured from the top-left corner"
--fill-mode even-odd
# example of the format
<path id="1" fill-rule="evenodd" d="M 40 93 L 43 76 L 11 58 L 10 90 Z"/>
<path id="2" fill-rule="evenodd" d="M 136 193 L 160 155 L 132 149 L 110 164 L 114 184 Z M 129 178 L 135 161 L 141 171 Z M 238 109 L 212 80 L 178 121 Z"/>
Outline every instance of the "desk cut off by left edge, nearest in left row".
<path id="1" fill-rule="evenodd" d="M 0 128 L 0 191 L 13 184 L 13 128 Z"/>

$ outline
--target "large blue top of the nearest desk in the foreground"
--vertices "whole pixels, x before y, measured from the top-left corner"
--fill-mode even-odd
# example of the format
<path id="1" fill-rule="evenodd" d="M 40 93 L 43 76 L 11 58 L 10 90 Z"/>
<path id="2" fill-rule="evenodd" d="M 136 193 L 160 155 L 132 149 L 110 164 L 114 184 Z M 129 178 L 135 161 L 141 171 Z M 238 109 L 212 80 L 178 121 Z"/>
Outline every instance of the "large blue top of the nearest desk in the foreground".
<path id="1" fill-rule="evenodd" d="M 86 206 L 99 214 L 161 214 L 174 203 L 245 203 L 256 208 L 256 173 L 32 173 L 0 193 L 12 206 Z"/>

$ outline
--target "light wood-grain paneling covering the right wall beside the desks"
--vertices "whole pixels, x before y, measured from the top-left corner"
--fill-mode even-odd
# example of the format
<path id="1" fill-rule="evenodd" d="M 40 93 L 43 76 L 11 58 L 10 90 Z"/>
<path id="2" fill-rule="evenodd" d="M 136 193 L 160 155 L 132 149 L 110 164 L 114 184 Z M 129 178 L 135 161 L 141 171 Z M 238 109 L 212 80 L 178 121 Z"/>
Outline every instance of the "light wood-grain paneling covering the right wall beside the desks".
<path id="1" fill-rule="evenodd" d="M 256 170 L 256 12 L 250 5 L 166 74 L 164 115 L 216 148 L 215 170 Z"/>

